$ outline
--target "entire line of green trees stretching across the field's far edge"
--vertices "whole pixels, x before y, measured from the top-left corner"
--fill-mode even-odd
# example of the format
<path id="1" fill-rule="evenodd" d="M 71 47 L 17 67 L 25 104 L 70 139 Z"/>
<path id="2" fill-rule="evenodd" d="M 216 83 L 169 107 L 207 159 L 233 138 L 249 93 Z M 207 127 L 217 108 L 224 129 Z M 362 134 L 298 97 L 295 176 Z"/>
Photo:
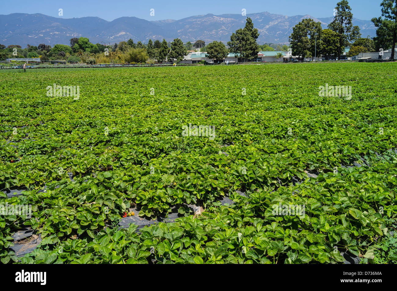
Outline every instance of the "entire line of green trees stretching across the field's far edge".
<path id="1" fill-rule="evenodd" d="M 357 55 L 360 52 L 380 51 L 392 48 L 391 59 L 394 60 L 394 51 L 397 34 L 397 0 L 383 0 L 380 4 L 382 16 L 373 18 L 376 29 L 376 37 L 361 37 L 360 28 L 353 26 L 353 13 L 347 0 L 337 2 L 333 21 L 327 29 L 322 29 L 320 22 L 313 19 L 303 19 L 295 27 L 289 37 L 293 55 L 304 59 L 314 55 L 324 55 L 326 59 L 336 56 L 341 57 L 345 47 L 350 47 L 347 56 Z M 39 46 L 27 45 L 22 49 L 19 45 L 11 45 L 7 48 L 0 44 L 0 60 L 18 57 L 40 57 L 40 60 L 83 61 L 84 63 L 155 63 L 169 61 L 180 62 L 193 48 L 206 51 L 206 57 L 218 62 L 229 53 L 239 56 L 241 59 L 251 60 L 257 57 L 258 52 L 274 51 L 268 44 L 258 45 L 258 29 L 254 28 L 252 19 L 247 17 L 245 27 L 237 29 L 224 43 L 213 41 L 206 45 L 203 40 L 197 40 L 194 44 L 183 42 L 175 38 L 173 42 L 163 39 L 151 39 L 147 44 L 138 41 L 136 44 L 130 38 L 118 44 L 97 43 L 92 44 L 88 38 L 71 38 L 70 46 L 56 44 L 51 47 L 46 44 Z M 204 49 L 205 47 L 205 49 Z M 286 51 L 288 46 L 278 46 L 277 50 Z M 278 57 L 281 57 L 279 54 Z"/>

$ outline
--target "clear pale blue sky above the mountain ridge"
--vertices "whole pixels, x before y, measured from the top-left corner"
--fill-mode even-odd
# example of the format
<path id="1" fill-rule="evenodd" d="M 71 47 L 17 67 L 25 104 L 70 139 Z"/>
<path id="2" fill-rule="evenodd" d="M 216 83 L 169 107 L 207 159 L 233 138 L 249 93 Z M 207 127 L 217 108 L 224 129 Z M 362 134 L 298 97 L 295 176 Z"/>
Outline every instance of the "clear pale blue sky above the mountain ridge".
<path id="1" fill-rule="evenodd" d="M 333 16 L 333 8 L 339 0 L 67 0 L 67 1 L 0 1 L 0 14 L 42 13 L 60 17 L 62 8 L 64 18 L 98 16 L 112 21 L 122 16 L 135 16 L 146 20 L 182 19 L 192 15 L 241 13 L 244 8 L 249 13 L 268 11 L 287 16 L 310 14 L 313 17 Z M 381 15 L 382 0 L 349 0 L 353 17 L 370 20 Z M 17 4 L 15 4 L 17 3 Z M 154 16 L 150 16 L 150 9 Z"/>

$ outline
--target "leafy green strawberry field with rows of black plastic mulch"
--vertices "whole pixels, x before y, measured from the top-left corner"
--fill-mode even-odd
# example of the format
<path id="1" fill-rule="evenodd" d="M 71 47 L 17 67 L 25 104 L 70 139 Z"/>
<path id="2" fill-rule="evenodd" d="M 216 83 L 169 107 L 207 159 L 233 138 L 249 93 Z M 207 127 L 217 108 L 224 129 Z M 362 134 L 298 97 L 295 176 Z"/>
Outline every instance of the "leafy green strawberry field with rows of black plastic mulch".
<path id="1" fill-rule="evenodd" d="M 376 262 L 396 80 L 396 63 L 0 72 L 0 205 L 31 206 L 0 215 L 0 259 Z"/>

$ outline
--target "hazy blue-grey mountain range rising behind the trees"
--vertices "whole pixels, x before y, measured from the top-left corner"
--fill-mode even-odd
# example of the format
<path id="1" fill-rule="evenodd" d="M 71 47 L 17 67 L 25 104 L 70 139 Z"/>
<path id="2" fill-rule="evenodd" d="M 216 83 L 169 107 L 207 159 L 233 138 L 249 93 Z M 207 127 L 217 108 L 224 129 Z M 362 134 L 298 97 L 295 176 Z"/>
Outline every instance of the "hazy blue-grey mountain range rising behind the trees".
<path id="1" fill-rule="evenodd" d="M 120 17 L 106 21 L 99 17 L 61 18 L 40 13 L 12 13 L 0 15 L 0 44 L 6 46 L 19 44 L 37 46 L 40 43 L 70 44 L 74 37 L 87 37 L 92 43 L 110 43 L 126 41 L 147 43 L 149 39 L 172 41 L 180 38 L 183 42 L 201 39 L 207 44 L 214 40 L 227 42 L 235 30 L 245 26 L 245 19 L 251 17 L 254 27 L 259 30 L 258 43 L 272 42 L 287 44 L 292 28 L 304 18 L 320 21 L 323 28 L 333 17 L 316 18 L 310 15 L 285 16 L 269 12 L 241 14 L 206 14 L 179 20 L 166 19 L 147 21 L 137 17 Z M 358 25 L 362 37 L 375 36 L 376 28 L 369 20 L 353 18 L 353 25 Z"/>

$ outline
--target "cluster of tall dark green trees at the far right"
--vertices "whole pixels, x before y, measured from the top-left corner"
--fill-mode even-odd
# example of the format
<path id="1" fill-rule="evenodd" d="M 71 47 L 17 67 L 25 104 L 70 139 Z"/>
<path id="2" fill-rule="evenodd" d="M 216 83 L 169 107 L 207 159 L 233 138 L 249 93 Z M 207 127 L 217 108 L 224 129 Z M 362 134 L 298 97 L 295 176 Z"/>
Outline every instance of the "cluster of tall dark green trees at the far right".
<path id="1" fill-rule="evenodd" d="M 350 47 L 347 57 L 391 48 L 391 60 L 394 60 L 397 0 L 383 0 L 380 6 L 382 16 L 372 18 L 377 28 L 373 39 L 369 36 L 362 38 L 360 28 L 353 26 L 353 13 L 347 0 L 337 2 L 334 19 L 327 29 L 322 29 L 321 23 L 313 19 L 303 19 L 295 25 L 289 37 L 293 55 L 300 59 L 314 55 L 324 55 L 326 59 L 338 56 L 340 59 L 345 47 Z"/>

